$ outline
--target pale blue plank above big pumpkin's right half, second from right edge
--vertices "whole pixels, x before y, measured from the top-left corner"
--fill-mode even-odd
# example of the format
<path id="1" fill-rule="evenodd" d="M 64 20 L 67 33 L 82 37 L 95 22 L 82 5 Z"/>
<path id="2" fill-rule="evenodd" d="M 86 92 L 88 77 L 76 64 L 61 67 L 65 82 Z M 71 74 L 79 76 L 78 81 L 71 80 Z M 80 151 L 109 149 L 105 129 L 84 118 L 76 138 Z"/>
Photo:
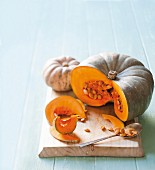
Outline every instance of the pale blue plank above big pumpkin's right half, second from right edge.
<path id="1" fill-rule="evenodd" d="M 137 58 L 148 68 L 130 1 L 111 1 L 109 6 L 116 40 L 116 50 L 119 53 Z"/>

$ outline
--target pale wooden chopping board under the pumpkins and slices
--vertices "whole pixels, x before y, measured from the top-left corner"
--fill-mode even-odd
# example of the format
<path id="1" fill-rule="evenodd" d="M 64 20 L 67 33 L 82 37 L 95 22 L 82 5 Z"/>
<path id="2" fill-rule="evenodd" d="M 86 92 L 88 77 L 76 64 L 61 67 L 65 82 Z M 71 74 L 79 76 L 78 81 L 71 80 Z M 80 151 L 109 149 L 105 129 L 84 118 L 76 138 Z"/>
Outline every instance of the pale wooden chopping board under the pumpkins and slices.
<path id="1" fill-rule="evenodd" d="M 70 95 L 73 92 L 54 92 L 51 89 L 47 91 L 46 104 L 57 96 Z M 74 96 L 75 97 L 75 96 Z M 86 106 L 87 121 L 78 122 L 74 133 L 80 138 L 80 143 L 101 137 L 110 136 L 113 132 L 108 130 L 102 131 L 101 126 L 109 126 L 107 121 L 102 118 L 102 113 L 114 115 L 113 104 L 102 107 Z M 129 122 L 128 122 L 129 123 Z M 46 120 L 43 111 L 43 124 L 39 145 L 39 157 L 56 157 L 56 156 L 114 156 L 114 157 L 143 157 L 143 147 L 140 135 L 133 139 L 123 139 L 122 137 L 113 137 L 99 142 L 95 145 L 79 147 L 79 144 L 64 143 L 55 139 L 50 134 L 50 126 Z M 90 129 L 86 132 L 85 129 Z"/>

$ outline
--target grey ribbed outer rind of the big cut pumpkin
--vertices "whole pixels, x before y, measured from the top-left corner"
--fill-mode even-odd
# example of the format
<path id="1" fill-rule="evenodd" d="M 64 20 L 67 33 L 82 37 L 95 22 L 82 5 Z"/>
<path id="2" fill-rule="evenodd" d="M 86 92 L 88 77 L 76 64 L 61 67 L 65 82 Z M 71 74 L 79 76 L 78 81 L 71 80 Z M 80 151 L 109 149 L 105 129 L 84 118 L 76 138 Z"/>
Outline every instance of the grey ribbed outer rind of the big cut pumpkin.
<path id="1" fill-rule="evenodd" d="M 128 117 L 123 121 L 143 114 L 148 108 L 154 89 L 153 76 L 137 59 L 116 53 L 101 53 L 87 58 L 79 66 L 97 68 L 107 77 L 110 70 L 117 71 L 113 81 L 124 92 L 128 104 Z"/>

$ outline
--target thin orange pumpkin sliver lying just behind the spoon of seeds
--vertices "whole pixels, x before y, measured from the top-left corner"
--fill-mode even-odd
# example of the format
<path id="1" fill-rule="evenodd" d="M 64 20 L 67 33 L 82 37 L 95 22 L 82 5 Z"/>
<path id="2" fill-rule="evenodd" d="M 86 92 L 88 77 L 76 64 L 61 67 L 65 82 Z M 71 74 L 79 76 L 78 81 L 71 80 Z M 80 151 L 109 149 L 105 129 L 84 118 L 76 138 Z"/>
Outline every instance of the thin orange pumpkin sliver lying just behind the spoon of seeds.
<path id="1" fill-rule="evenodd" d="M 112 115 L 102 114 L 103 119 L 109 120 L 114 128 L 124 128 L 124 123 Z"/>

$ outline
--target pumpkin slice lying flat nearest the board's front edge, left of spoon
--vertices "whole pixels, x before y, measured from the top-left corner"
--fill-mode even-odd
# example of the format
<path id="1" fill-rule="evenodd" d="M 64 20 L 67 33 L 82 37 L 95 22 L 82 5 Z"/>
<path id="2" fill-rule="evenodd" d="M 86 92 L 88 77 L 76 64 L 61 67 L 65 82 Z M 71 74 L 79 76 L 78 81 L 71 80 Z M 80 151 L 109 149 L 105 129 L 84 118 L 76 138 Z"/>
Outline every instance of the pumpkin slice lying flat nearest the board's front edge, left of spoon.
<path id="1" fill-rule="evenodd" d="M 78 143 L 78 142 L 80 142 L 80 138 L 77 135 L 75 135 L 74 133 L 64 135 L 62 133 L 59 133 L 55 129 L 54 126 L 50 127 L 50 133 L 54 138 L 56 138 L 56 139 L 58 139 L 62 142 L 68 142 L 68 143 Z"/>

